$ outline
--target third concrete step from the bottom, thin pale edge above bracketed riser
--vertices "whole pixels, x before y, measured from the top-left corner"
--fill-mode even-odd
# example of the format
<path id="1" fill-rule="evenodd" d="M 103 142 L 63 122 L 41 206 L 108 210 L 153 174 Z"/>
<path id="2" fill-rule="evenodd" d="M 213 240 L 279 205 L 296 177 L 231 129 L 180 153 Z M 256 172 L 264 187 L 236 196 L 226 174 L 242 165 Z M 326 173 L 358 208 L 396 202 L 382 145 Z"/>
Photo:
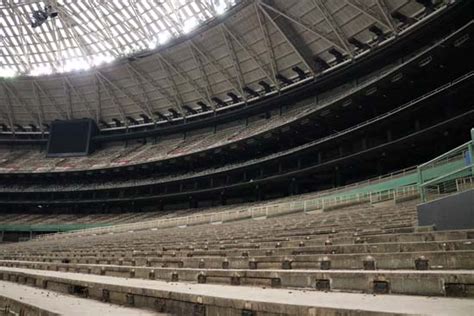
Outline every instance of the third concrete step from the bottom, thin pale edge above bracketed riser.
<path id="1" fill-rule="evenodd" d="M 149 268 L 95 264 L 1 262 L 9 267 L 170 282 L 305 288 L 319 291 L 474 297 L 472 270 L 249 270 Z M 458 292 L 453 289 L 459 288 Z"/>

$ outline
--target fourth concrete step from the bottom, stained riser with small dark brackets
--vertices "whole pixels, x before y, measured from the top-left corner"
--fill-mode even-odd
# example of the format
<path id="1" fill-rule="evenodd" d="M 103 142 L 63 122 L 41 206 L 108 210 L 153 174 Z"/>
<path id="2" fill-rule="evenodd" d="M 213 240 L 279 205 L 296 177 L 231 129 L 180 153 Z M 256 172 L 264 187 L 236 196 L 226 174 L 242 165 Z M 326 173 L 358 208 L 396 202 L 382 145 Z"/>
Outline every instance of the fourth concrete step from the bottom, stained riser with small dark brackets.
<path id="1" fill-rule="evenodd" d="M 65 257 L 9 257 L 13 260 L 38 261 L 46 263 L 111 264 L 130 266 L 170 267 L 170 268 L 223 268 L 230 269 L 363 269 L 367 256 L 372 257 L 377 269 L 416 269 L 417 260 L 427 260 L 430 269 L 474 269 L 474 250 L 416 251 L 416 252 L 370 252 L 355 254 L 315 254 L 291 256 L 238 256 L 238 257 L 85 257 L 80 259 Z M 1 262 L 2 260 L 0 260 Z M 6 260 L 8 261 L 8 260 Z"/>

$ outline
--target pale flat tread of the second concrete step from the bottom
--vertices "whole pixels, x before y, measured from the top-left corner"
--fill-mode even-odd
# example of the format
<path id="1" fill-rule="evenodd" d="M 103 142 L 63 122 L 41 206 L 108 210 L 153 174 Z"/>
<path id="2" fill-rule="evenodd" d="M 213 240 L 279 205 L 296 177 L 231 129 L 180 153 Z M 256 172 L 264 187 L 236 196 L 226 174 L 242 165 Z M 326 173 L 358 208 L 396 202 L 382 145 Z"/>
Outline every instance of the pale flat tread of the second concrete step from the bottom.
<path id="1" fill-rule="evenodd" d="M 325 293 L 314 291 L 269 289 L 257 287 L 233 287 L 215 284 L 172 283 L 127 279 L 110 276 L 97 276 L 80 273 L 37 271 L 17 268 L 0 268 L 2 273 L 17 273 L 42 277 L 61 282 L 81 283 L 83 285 L 108 285 L 151 295 L 168 293 L 168 297 L 201 297 L 204 302 L 223 299 L 229 304 L 246 303 L 253 310 L 260 304 L 280 306 L 284 312 L 291 306 L 307 308 L 308 314 L 316 315 L 321 309 L 358 310 L 373 313 L 401 313 L 423 315 L 472 315 L 474 300 L 457 298 L 433 298 L 404 295 L 368 295 L 355 293 Z M 222 302 L 222 301 L 221 301 Z M 313 309 L 314 308 L 314 309 Z M 313 309 L 313 310 L 312 310 Z M 311 310 L 313 311 L 311 313 Z"/>

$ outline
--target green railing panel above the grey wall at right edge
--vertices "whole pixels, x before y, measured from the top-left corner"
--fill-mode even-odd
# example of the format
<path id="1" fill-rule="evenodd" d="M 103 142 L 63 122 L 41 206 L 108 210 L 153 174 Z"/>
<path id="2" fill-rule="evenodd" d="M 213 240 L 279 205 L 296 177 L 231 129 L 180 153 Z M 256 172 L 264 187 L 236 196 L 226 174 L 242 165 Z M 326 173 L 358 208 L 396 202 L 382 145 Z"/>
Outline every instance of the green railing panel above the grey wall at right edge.
<path id="1" fill-rule="evenodd" d="M 417 168 L 423 202 L 474 188 L 474 128 L 471 140 Z"/>

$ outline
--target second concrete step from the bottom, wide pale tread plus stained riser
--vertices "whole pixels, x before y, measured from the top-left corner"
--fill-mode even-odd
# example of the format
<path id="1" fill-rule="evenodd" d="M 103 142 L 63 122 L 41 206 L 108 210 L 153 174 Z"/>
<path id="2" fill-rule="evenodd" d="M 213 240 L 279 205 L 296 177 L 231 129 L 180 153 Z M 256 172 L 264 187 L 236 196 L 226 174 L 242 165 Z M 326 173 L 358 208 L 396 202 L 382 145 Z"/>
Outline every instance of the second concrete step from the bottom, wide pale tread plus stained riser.
<path id="1" fill-rule="evenodd" d="M 0 268 L 2 279 L 179 315 L 472 315 L 474 300 L 325 293 Z"/>

